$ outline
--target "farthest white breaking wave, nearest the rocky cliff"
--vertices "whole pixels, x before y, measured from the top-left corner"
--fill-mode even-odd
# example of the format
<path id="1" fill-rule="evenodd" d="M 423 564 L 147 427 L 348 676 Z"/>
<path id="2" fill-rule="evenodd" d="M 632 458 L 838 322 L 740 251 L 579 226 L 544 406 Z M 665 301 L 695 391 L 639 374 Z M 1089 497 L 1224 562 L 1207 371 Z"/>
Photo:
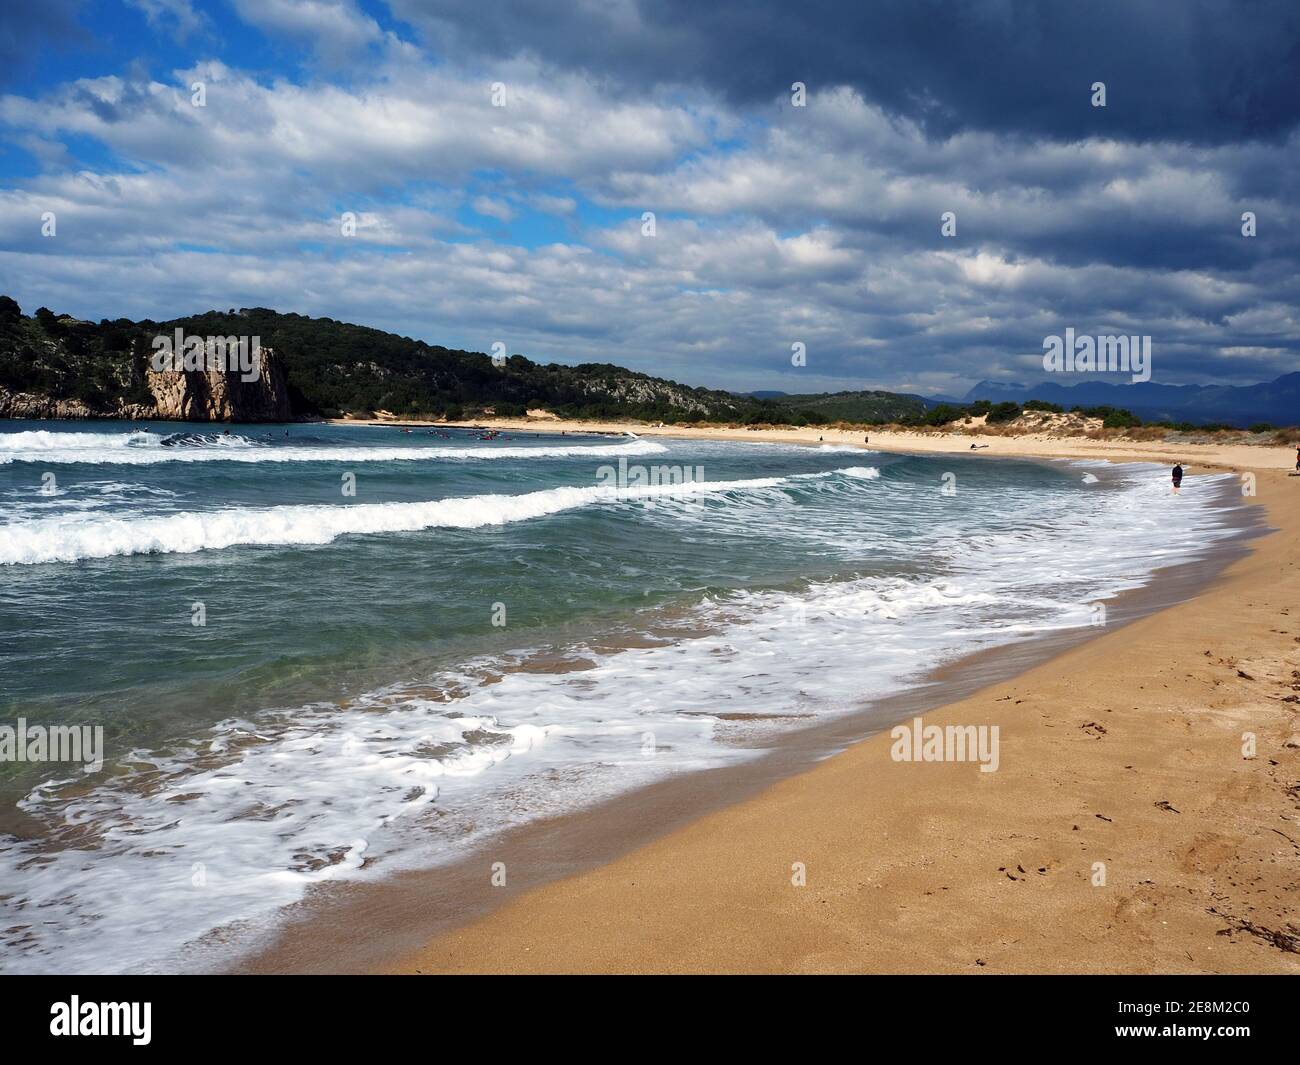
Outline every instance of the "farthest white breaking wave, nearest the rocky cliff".
<path id="1" fill-rule="evenodd" d="M 0 433 L 0 464 L 14 462 L 46 466 L 113 464 L 155 466 L 168 462 L 477 462 L 482 459 L 585 459 L 619 455 L 658 455 L 667 449 L 650 440 L 633 438 L 619 443 L 575 445 L 493 445 L 467 443 L 463 447 L 404 447 L 312 445 L 261 442 L 242 436 L 191 434 L 170 445 L 157 433 L 56 433 L 44 429 Z"/>

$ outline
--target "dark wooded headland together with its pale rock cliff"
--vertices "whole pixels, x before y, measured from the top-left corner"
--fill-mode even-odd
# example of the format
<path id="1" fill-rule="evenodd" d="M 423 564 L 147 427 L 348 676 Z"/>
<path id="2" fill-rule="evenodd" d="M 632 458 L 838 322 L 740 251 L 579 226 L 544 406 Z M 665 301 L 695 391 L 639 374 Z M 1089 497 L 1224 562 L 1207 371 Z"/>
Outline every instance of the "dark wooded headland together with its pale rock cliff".
<path id="1" fill-rule="evenodd" d="M 203 341 L 202 352 L 195 339 Z M 260 345 L 263 339 L 264 351 L 274 348 L 265 368 L 252 381 L 240 380 L 235 368 L 248 367 L 244 343 Z M 238 348 L 234 355 L 231 345 Z M 164 356 L 157 368 L 155 356 Z M 179 369 L 173 368 L 177 356 Z M 481 351 L 266 307 L 231 307 L 168 321 L 95 322 L 56 315 L 47 307 L 23 315 L 17 300 L 4 295 L 0 389 L 9 393 L 4 399 L 9 417 L 213 423 L 369 417 L 394 411 L 460 420 L 481 417 L 486 410 L 497 417 L 546 410 L 569 417 L 755 424 L 788 420 L 784 415 L 790 414 L 788 404 L 768 398 L 693 389 L 610 363 L 543 365 L 523 355 L 499 360 Z M 905 399 L 911 404 L 905 410 L 923 410 L 919 399 Z M 868 406 L 875 410 L 879 404 Z M 793 414 L 802 424 L 807 412 Z M 823 415 L 820 420 L 854 420 L 838 410 Z"/>

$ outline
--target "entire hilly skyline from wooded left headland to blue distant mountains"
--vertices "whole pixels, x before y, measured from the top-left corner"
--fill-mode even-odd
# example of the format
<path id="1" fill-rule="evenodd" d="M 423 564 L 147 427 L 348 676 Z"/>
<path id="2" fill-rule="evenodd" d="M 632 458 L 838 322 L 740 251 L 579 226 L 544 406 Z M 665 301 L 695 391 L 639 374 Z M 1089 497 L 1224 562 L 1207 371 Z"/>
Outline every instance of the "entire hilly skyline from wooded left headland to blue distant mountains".
<path id="1" fill-rule="evenodd" d="M 257 338 L 256 381 L 224 371 L 159 371 L 156 337 Z M 364 325 L 265 307 L 208 311 L 168 321 L 82 321 L 0 296 L 0 417 L 280 421 L 330 416 L 460 420 L 521 416 L 543 407 L 569 417 L 819 425 L 920 424 L 939 408 L 984 401 L 1114 407 L 1178 423 L 1300 421 L 1300 372 L 1256 385 L 1019 385 L 980 381 L 962 401 L 880 389 L 734 393 L 696 388 L 614 365 L 534 363 L 447 348 Z"/>

